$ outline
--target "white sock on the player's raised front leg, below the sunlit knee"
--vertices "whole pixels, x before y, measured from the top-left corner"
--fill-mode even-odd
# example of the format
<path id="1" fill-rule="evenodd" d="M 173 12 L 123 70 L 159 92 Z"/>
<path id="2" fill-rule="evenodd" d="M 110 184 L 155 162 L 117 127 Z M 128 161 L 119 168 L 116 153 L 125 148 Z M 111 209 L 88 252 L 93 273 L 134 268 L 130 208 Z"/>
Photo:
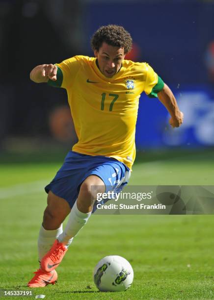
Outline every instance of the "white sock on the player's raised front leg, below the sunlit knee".
<path id="1" fill-rule="evenodd" d="M 67 247 L 70 246 L 73 238 L 78 234 L 80 229 L 86 224 L 91 212 L 82 213 L 77 208 L 77 201 L 74 203 L 74 206 L 71 209 L 69 214 L 68 223 L 63 230 L 63 232 L 58 236 L 58 241 L 65 244 Z"/>

